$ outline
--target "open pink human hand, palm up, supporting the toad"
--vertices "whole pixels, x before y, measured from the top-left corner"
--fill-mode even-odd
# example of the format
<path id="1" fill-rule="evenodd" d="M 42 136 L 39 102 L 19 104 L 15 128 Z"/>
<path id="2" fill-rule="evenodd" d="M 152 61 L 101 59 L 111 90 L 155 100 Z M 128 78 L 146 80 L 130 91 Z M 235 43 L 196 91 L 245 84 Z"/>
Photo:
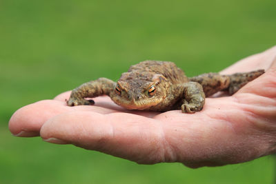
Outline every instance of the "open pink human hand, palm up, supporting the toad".
<path id="1" fill-rule="evenodd" d="M 15 136 L 73 144 L 143 164 L 188 167 L 242 163 L 276 152 L 276 46 L 231 65 L 221 74 L 265 69 L 233 96 L 207 98 L 201 112 L 139 112 L 107 96 L 96 105 L 68 107 L 70 92 L 26 105 L 12 115 Z"/>

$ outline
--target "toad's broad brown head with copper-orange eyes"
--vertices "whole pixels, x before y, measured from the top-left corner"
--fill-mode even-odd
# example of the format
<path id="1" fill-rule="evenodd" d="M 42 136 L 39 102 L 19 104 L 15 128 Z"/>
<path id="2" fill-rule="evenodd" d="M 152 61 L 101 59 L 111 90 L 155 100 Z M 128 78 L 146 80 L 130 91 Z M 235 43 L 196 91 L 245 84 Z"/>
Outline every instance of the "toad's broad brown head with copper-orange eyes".
<path id="1" fill-rule="evenodd" d="M 121 75 L 110 98 L 124 108 L 146 110 L 166 99 L 167 83 L 161 74 L 126 72 Z"/>

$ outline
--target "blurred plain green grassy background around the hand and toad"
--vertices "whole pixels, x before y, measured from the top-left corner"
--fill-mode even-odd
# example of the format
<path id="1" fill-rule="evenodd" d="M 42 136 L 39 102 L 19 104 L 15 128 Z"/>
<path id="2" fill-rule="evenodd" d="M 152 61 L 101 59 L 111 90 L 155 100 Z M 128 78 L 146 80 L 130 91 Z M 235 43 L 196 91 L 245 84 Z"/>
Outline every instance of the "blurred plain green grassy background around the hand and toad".
<path id="1" fill-rule="evenodd" d="M 192 170 L 137 165 L 8 131 L 23 105 L 146 59 L 188 76 L 276 44 L 276 1 L 0 1 L 0 183 L 273 183 L 274 159 Z"/>

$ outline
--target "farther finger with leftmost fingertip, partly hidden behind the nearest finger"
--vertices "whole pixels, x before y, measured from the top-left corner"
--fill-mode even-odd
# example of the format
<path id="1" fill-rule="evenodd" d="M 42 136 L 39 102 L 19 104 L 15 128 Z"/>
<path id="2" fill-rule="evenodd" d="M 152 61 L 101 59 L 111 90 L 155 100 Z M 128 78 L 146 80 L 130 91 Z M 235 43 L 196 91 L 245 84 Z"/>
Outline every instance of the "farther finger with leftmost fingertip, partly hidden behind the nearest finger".
<path id="1" fill-rule="evenodd" d="M 39 136 L 43 123 L 54 116 L 70 111 L 88 111 L 101 114 L 117 112 L 92 105 L 68 107 L 63 101 L 39 101 L 14 112 L 9 122 L 10 132 L 15 136 Z"/>

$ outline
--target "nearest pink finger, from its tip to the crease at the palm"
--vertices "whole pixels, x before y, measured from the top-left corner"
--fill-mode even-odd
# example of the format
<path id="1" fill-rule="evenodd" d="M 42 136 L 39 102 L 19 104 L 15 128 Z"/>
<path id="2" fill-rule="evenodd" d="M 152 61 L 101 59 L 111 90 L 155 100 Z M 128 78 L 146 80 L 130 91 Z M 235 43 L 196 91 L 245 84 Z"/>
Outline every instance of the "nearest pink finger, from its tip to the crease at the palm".
<path id="1" fill-rule="evenodd" d="M 41 128 L 50 143 L 71 143 L 137 163 L 165 161 L 163 130 L 159 121 L 135 114 L 68 112 Z"/>

